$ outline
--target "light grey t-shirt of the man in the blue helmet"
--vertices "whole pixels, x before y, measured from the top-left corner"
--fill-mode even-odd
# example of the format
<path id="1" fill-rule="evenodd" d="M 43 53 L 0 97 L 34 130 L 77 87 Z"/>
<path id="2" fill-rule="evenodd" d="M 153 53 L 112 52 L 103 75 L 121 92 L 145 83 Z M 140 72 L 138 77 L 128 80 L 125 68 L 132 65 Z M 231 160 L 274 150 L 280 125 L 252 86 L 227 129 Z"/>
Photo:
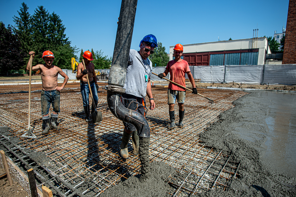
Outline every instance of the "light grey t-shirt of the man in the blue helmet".
<path id="1" fill-rule="evenodd" d="M 145 75 L 147 78 L 151 78 L 152 62 L 148 58 L 144 60 L 138 51 L 131 49 L 128 56 L 126 83 L 123 86 L 126 89 L 126 94 L 144 98 L 147 89 Z"/>

